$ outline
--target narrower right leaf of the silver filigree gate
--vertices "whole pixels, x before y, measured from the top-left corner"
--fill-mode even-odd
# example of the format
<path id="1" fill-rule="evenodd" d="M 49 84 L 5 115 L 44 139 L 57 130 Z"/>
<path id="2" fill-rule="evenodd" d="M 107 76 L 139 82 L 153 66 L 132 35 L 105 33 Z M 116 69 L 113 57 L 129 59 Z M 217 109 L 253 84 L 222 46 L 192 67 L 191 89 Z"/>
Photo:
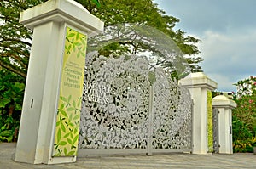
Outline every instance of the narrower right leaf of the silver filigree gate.
<path id="1" fill-rule="evenodd" d="M 189 91 L 173 82 L 165 70 L 156 69 L 155 76 L 153 148 L 190 150 L 192 99 Z"/>

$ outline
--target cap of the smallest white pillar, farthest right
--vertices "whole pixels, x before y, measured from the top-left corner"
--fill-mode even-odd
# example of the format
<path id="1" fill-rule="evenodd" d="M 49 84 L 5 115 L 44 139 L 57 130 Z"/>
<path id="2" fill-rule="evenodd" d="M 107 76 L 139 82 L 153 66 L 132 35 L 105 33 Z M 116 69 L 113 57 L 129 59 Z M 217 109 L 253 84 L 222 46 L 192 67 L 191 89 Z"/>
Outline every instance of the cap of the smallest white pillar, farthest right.
<path id="1" fill-rule="evenodd" d="M 218 95 L 212 99 L 212 107 L 218 108 L 236 108 L 236 102 L 224 95 Z"/>

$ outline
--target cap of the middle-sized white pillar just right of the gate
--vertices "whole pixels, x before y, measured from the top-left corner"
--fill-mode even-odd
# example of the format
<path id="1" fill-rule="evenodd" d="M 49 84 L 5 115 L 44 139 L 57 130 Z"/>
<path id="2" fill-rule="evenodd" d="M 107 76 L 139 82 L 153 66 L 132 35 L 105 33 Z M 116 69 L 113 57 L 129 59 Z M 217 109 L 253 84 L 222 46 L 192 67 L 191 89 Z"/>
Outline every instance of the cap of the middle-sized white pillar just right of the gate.
<path id="1" fill-rule="evenodd" d="M 217 82 L 214 82 L 203 72 L 190 73 L 185 78 L 179 80 L 183 87 L 204 87 L 209 90 L 215 90 L 218 87 Z"/>

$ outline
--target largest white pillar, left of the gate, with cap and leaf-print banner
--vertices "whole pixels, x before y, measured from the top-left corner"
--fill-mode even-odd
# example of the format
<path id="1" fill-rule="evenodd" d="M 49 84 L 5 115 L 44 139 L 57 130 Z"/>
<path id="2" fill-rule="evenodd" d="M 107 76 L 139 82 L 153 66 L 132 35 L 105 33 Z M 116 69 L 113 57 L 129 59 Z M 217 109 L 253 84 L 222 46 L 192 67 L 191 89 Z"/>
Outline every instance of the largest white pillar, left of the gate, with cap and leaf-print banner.
<path id="1" fill-rule="evenodd" d="M 69 124 L 64 126 L 61 122 L 79 118 L 79 103 L 75 112 L 70 108 L 65 114 L 61 94 L 72 91 L 77 97 L 83 91 L 86 37 L 102 31 L 103 22 L 73 0 L 50 0 L 22 12 L 20 23 L 33 30 L 33 40 L 15 161 L 32 164 L 76 161 L 77 137 L 73 133 L 79 131 L 78 122 L 72 125 L 74 131 L 68 131 Z M 68 43 L 68 38 L 77 43 Z M 76 44 L 83 48 L 71 51 L 77 48 Z M 72 58 L 74 54 L 76 57 Z M 71 95 L 68 102 L 73 105 L 75 100 Z M 62 117 L 60 112 L 64 114 Z M 77 116 L 71 115 L 74 113 Z M 57 130 L 58 126 L 62 130 Z M 69 143 L 72 151 L 61 149 Z"/>

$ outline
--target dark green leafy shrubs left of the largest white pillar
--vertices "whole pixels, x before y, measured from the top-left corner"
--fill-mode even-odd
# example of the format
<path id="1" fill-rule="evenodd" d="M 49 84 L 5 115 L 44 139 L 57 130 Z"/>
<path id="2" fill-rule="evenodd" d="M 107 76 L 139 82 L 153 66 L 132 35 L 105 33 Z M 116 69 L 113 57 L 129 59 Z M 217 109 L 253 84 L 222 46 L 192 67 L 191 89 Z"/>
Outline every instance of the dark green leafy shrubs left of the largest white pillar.
<path id="1" fill-rule="evenodd" d="M 9 70 L 0 70 L 0 142 L 17 139 L 24 81 Z"/>

